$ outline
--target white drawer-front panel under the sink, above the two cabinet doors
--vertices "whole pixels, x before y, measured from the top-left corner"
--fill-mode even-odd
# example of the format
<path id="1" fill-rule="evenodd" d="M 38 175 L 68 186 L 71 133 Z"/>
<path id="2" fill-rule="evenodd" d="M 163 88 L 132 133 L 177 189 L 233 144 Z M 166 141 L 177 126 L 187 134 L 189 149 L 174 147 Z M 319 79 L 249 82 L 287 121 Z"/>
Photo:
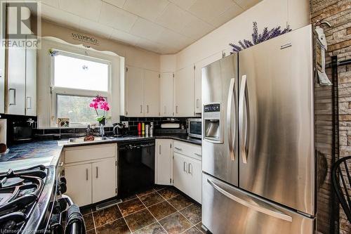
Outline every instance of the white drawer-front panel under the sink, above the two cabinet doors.
<path id="1" fill-rule="evenodd" d="M 117 144 L 77 146 L 65 149 L 65 163 L 116 157 Z"/>

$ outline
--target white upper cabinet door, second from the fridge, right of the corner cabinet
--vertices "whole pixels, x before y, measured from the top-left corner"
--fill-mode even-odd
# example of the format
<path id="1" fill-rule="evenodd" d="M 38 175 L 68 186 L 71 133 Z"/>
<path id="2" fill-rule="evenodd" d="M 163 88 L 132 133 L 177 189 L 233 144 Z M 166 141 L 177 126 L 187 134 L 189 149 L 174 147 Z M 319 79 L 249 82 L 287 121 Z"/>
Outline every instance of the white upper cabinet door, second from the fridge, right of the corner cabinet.
<path id="1" fill-rule="evenodd" d="M 194 66 L 178 70 L 174 77 L 174 115 L 194 116 Z"/>

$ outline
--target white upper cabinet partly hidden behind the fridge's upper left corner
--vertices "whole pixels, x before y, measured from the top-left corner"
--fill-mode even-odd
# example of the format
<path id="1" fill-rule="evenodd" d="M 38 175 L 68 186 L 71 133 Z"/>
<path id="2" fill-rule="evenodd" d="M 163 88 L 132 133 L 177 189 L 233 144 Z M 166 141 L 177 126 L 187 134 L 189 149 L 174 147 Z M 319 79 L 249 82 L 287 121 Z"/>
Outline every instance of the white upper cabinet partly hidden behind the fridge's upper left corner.
<path id="1" fill-rule="evenodd" d="M 220 58 L 223 57 L 222 51 L 213 54 L 203 60 L 195 63 L 195 71 L 194 71 L 194 112 L 201 113 L 201 70 L 202 67 L 206 67 L 206 65 L 213 63 Z"/>

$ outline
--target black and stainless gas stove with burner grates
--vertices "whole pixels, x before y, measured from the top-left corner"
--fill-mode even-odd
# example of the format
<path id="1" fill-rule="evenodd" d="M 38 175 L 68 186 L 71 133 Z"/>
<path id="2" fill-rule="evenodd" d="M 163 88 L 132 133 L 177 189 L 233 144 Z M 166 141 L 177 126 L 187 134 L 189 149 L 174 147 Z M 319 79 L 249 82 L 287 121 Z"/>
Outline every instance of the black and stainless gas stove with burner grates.
<path id="1" fill-rule="evenodd" d="M 0 174 L 0 233 L 63 233 L 53 230 L 63 231 L 62 214 L 72 205 L 62 195 L 65 189 L 65 178 L 55 167 Z"/>

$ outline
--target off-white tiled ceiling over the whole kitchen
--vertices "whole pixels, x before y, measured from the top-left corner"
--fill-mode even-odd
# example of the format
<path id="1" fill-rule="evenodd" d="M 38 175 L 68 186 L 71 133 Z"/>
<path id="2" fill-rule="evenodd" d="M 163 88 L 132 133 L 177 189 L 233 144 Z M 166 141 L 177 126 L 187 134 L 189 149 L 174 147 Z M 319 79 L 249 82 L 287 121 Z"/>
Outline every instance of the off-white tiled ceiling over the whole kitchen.
<path id="1" fill-rule="evenodd" d="M 261 0 L 37 0 L 45 20 L 176 53 Z"/>

